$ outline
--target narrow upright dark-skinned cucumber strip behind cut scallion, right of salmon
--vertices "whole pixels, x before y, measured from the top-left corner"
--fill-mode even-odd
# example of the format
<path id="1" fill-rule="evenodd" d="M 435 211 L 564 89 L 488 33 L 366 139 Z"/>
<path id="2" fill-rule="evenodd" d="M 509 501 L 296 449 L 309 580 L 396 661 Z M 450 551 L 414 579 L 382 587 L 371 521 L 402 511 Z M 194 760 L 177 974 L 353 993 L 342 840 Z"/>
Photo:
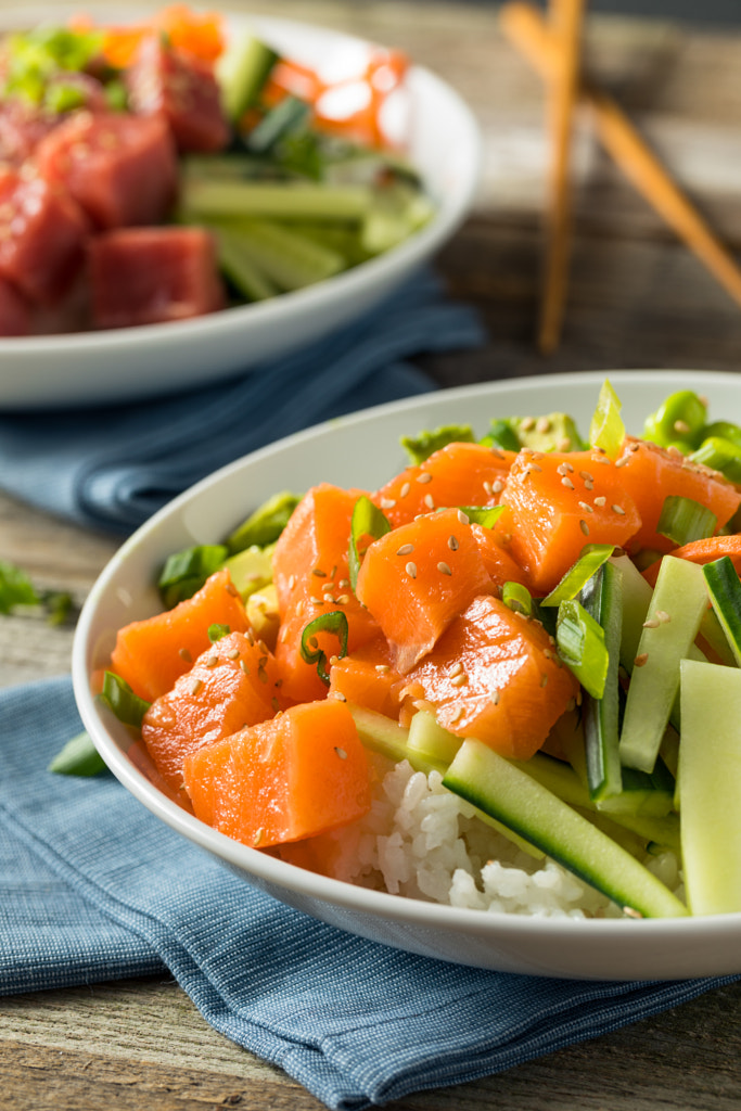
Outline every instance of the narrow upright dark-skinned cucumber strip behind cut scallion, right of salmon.
<path id="1" fill-rule="evenodd" d="M 587 694 L 583 703 L 584 747 L 589 793 L 595 802 L 619 795 L 622 771 L 618 754 L 619 661 L 622 630 L 622 572 L 604 563 L 585 583 L 581 602 L 604 633 L 608 669 L 601 698 Z"/>

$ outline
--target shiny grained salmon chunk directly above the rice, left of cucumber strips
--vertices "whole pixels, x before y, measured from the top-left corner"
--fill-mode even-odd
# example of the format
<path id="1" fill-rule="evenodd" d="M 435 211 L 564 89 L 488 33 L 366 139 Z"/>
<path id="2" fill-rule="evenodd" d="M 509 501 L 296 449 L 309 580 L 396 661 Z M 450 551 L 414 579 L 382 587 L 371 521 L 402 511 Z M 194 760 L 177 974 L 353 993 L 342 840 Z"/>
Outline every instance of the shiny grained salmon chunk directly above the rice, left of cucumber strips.
<path id="1" fill-rule="evenodd" d="M 543 627 L 491 595 L 471 602 L 407 681 L 451 733 L 515 760 L 538 751 L 579 693 Z"/>

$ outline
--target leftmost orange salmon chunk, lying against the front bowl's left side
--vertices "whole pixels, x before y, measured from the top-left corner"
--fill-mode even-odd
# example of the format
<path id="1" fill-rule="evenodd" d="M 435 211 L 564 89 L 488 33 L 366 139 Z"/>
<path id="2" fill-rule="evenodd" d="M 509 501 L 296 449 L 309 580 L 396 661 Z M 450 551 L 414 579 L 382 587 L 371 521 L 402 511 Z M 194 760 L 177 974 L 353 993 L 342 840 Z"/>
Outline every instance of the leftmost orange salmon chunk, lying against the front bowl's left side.
<path id="1" fill-rule="evenodd" d="M 133 621 L 119 629 L 111 652 L 111 668 L 139 698 L 153 702 L 174 687 L 179 675 L 209 645 L 209 627 L 224 624 L 246 632 L 250 622 L 244 603 L 222 569 L 210 577 L 192 598 L 171 610 Z"/>

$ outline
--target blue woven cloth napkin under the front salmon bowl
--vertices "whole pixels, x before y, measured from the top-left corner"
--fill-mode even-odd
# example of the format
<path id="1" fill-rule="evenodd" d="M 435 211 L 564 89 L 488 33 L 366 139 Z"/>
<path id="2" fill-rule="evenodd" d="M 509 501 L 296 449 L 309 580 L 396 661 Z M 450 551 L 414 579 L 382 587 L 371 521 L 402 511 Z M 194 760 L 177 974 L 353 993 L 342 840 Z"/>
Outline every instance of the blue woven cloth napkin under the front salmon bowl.
<path id="1" fill-rule="evenodd" d="M 67 678 L 0 692 L 0 993 L 162 970 L 329 1108 L 474 1080 L 732 977 L 529 978 L 398 952 L 252 889 L 110 774 L 46 771 L 81 728 Z"/>

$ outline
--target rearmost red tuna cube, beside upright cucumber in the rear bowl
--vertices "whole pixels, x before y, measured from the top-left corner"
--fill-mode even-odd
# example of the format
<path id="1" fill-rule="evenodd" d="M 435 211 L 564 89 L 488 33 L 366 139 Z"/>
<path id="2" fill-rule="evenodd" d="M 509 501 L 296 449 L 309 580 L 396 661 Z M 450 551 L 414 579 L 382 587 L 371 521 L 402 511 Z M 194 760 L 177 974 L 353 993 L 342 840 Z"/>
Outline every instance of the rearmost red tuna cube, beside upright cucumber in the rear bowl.
<path id="1" fill-rule="evenodd" d="M 229 142 L 219 86 L 210 69 L 161 37 L 147 39 L 127 74 L 129 103 L 161 112 L 181 151 L 217 151 Z"/>

